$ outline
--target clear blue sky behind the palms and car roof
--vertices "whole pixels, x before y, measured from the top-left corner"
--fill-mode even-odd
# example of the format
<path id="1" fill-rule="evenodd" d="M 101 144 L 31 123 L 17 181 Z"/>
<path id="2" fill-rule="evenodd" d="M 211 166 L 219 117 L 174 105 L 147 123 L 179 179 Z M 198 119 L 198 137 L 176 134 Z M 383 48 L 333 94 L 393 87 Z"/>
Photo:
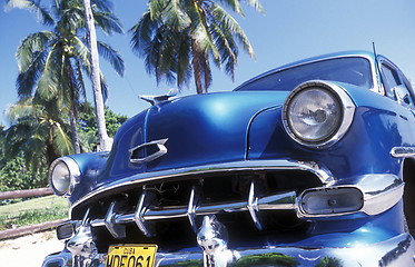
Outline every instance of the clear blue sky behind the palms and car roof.
<path id="1" fill-rule="evenodd" d="M 45 1 L 45 0 L 43 0 Z M 47 1 L 46 1 L 47 2 Z M 245 17 L 233 13 L 248 36 L 255 59 L 239 52 L 235 81 L 214 65 L 210 92 L 229 91 L 244 81 L 296 60 L 345 50 L 376 50 L 394 61 L 415 83 L 415 1 L 414 0 L 261 0 L 265 14 L 244 4 Z M 2 1 L 0 1 L 2 4 Z M 175 85 L 150 77 L 144 60 L 130 48 L 128 30 L 147 9 L 146 0 L 113 0 L 115 13 L 126 34 L 99 39 L 117 49 L 126 63 L 125 77 L 118 77 L 100 59 L 109 85 L 107 106 L 116 113 L 132 117 L 149 105 L 138 95 L 164 95 Z M 8 125 L 3 112 L 17 102 L 14 58 L 20 41 L 30 33 L 48 28 L 38 23 L 27 10 L 0 8 L 0 123 Z M 50 29 L 48 29 L 50 30 Z M 92 101 L 91 88 L 88 100 Z M 196 93 L 194 82 L 179 96 Z"/>

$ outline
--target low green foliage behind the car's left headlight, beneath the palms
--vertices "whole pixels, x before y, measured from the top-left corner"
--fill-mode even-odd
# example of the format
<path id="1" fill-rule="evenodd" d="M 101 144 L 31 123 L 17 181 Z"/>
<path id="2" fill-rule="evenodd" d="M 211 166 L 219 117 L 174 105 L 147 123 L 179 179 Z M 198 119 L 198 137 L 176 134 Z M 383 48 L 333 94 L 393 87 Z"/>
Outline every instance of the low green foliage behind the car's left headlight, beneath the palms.
<path id="1" fill-rule="evenodd" d="M 50 162 L 71 152 L 68 118 L 60 119 L 62 113 L 31 101 L 20 101 L 7 113 L 12 126 L 6 130 L 0 126 L 0 191 L 47 186 Z M 127 116 L 116 115 L 107 108 L 109 135 L 113 136 L 127 119 Z M 98 141 L 90 103 L 80 112 L 80 139 L 83 151 L 93 150 Z"/>

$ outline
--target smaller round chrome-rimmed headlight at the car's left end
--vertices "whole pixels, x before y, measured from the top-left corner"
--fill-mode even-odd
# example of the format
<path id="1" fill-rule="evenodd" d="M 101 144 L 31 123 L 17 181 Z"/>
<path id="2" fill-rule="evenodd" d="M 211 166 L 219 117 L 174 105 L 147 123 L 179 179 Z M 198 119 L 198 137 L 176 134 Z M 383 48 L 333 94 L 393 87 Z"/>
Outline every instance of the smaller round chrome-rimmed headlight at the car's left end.
<path id="1" fill-rule="evenodd" d="M 66 176 L 60 176 L 57 174 L 57 168 L 66 168 Z M 53 194 L 60 197 L 70 197 L 79 184 L 80 169 L 78 164 L 70 157 L 61 157 L 50 165 L 49 168 L 49 186 Z M 60 182 L 60 185 L 59 185 Z"/>

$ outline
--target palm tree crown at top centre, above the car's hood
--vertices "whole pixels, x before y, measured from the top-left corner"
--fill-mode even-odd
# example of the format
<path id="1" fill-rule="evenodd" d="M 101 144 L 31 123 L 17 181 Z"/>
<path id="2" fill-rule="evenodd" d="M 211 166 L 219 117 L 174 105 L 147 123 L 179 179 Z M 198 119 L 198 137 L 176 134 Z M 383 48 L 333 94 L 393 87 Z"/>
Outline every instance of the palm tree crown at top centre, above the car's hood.
<path id="1" fill-rule="evenodd" d="M 209 59 L 234 80 L 238 42 L 254 57 L 254 49 L 238 22 L 217 2 L 244 16 L 240 0 L 149 0 L 148 9 L 131 28 L 131 44 L 145 58 L 147 72 L 157 81 L 180 88 L 195 78 L 198 93 L 211 85 Z M 263 12 L 259 0 L 247 0 Z"/>

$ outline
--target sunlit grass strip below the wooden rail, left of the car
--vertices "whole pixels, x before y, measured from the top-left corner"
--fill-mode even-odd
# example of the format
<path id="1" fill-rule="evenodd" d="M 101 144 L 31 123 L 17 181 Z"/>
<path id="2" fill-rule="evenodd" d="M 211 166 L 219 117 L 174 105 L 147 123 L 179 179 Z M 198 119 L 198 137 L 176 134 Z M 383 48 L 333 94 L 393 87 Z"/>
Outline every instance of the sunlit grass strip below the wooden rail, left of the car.
<path id="1" fill-rule="evenodd" d="M 0 230 L 68 217 L 68 201 L 57 196 L 0 206 Z"/>

